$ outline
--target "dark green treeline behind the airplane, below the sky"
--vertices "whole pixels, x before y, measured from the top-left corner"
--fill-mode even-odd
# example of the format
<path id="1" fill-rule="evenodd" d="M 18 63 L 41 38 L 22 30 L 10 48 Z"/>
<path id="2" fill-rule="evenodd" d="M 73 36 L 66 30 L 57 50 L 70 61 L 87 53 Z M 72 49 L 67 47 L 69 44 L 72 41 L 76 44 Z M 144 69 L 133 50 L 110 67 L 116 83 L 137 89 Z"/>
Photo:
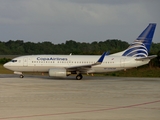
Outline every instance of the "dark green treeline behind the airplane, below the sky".
<path id="1" fill-rule="evenodd" d="M 32 55 L 32 54 L 102 54 L 104 51 L 110 53 L 125 50 L 129 44 L 121 40 L 106 40 L 100 42 L 76 42 L 68 40 L 65 43 L 54 44 L 52 42 L 24 42 L 23 40 L 0 41 L 0 55 Z M 160 43 L 152 43 L 150 54 L 160 52 Z"/>

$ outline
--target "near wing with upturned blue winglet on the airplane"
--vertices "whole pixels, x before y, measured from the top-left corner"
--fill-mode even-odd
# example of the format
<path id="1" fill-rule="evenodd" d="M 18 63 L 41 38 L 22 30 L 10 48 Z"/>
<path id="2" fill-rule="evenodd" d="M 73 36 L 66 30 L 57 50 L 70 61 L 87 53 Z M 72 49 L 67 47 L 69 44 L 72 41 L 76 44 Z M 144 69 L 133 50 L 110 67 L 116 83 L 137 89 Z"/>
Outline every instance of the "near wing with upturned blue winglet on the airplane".
<path id="1" fill-rule="evenodd" d="M 106 55 L 108 55 L 108 53 L 104 52 L 98 59 L 98 61 L 94 64 L 71 66 L 71 67 L 66 67 L 66 69 L 67 71 L 79 71 L 82 73 L 89 71 L 92 68 L 92 66 L 100 65 L 103 62 L 103 59 Z"/>

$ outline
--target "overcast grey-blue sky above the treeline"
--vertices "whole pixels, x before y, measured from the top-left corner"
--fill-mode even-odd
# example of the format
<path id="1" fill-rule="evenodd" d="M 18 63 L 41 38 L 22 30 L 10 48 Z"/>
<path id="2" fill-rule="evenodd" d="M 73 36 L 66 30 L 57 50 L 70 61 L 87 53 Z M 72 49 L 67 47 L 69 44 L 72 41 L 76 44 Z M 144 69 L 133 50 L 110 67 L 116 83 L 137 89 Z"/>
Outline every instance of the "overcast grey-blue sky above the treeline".
<path id="1" fill-rule="evenodd" d="M 0 41 L 132 43 L 157 23 L 153 42 L 160 43 L 159 6 L 160 0 L 0 0 Z"/>

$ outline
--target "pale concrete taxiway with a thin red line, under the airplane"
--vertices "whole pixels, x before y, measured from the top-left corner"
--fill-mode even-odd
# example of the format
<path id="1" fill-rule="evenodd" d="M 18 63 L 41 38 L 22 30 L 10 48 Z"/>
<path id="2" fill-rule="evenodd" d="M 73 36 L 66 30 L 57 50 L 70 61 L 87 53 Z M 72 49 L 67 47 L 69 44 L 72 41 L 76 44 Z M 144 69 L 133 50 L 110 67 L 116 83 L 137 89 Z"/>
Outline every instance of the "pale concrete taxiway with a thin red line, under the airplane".
<path id="1" fill-rule="evenodd" d="M 0 75 L 0 120 L 159 120 L 160 78 Z"/>

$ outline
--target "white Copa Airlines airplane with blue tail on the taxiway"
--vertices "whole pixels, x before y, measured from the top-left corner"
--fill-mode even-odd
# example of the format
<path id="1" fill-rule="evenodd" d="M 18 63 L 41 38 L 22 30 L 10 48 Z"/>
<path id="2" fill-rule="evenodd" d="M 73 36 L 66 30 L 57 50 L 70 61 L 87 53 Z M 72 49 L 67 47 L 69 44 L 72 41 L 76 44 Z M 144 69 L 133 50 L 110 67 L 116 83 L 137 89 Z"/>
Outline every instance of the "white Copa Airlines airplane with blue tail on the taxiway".
<path id="1" fill-rule="evenodd" d="M 139 37 L 124 51 L 109 55 L 26 55 L 12 59 L 4 67 L 23 78 L 24 72 L 49 73 L 51 77 L 65 78 L 71 74 L 77 80 L 82 74 L 107 73 L 148 64 L 157 55 L 148 56 L 156 23 L 150 23 Z"/>

